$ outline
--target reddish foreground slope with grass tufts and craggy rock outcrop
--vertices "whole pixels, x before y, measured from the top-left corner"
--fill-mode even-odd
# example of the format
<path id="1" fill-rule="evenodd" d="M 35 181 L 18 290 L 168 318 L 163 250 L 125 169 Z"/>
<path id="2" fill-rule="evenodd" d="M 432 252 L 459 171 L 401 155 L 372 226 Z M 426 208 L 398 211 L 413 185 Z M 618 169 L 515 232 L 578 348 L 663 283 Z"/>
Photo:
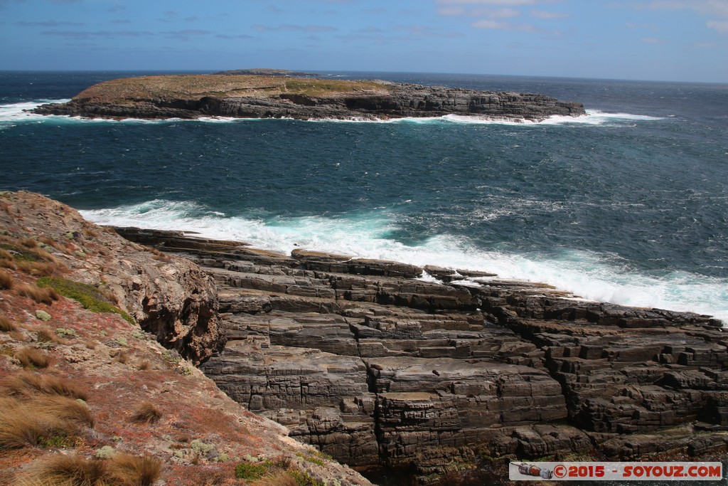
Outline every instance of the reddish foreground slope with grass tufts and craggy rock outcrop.
<path id="1" fill-rule="evenodd" d="M 194 367 L 217 307 L 189 260 L 0 192 L 0 485 L 371 485 Z"/>

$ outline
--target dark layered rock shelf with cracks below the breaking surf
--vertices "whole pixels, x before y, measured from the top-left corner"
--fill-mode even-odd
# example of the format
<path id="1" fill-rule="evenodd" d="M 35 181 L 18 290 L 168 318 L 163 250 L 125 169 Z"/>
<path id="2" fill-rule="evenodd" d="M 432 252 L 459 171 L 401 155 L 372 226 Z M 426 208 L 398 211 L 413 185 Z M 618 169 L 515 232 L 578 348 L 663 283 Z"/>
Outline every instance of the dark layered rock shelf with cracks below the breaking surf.
<path id="1" fill-rule="evenodd" d="M 426 477 L 476 454 L 617 459 L 728 442 L 728 336 L 705 315 L 573 299 L 541 284 L 119 230 L 218 285 L 233 399 L 352 466 Z M 486 277 L 466 286 L 464 276 Z"/>

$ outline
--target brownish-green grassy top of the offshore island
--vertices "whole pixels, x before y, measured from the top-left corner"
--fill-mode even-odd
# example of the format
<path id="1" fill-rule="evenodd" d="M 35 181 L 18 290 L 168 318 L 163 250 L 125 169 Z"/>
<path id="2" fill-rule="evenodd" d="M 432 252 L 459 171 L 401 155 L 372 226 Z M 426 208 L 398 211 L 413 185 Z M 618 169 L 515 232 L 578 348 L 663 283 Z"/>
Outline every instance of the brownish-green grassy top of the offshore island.
<path id="1" fill-rule="evenodd" d="M 245 75 L 189 74 L 114 79 L 83 90 L 76 101 L 119 103 L 155 99 L 197 100 L 215 98 L 273 98 L 280 95 L 311 97 L 378 95 L 391 90 L 374 81 L 272 77 Z"/>

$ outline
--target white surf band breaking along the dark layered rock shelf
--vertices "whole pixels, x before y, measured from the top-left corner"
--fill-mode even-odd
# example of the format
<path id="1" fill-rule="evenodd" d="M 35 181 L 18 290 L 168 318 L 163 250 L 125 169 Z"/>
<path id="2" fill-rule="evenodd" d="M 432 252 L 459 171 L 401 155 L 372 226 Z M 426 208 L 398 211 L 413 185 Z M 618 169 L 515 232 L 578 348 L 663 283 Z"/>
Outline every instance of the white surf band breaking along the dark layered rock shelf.
<path id="1" fill-rule="evenodd" d="M 685 272 L 661 276 L 625 273 L 609 262 L 608 255 L 586 251 L 563 251 L 558 256 L 503 254 L 475 248 L 467 239 L 451 235 L 410 246 L 389 238 L 393 222 L 387 213 L 264 221 L 226 217 L 194 203 L 154 200 L 82 214 L 99 224 L 196 231 L 209 238 L 246 241 L 285 254 L 294 248 L 309 248 L 420 266 L 482 270 L 496 273 L 498 278 L 550 283 L 585 299 L 692 311 L 728 322 L 728 279 Z M 472 279 L 475 283 L 482 280 Z"/>

